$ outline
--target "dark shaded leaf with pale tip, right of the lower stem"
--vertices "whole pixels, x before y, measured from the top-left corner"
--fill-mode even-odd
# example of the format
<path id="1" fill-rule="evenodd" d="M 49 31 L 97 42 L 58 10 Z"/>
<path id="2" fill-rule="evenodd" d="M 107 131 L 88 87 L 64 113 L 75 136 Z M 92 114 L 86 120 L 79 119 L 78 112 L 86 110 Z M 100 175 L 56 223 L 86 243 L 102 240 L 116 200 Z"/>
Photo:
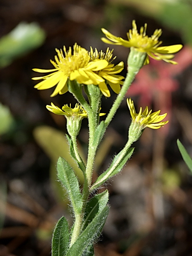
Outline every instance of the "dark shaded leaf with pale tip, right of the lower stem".
<path id="1" fill-rule="evenodd" d="M 93 218 L 104 209 L 106 204 L 109 200 L 109 192 L 106 189 L 104 192 L 95 195 L 93 198 L 88 201 L 85 209 L 84 214 L 84 227 L 87 227 L 87 225 L 90 223 L 90 221 L 93 220 Z"/>

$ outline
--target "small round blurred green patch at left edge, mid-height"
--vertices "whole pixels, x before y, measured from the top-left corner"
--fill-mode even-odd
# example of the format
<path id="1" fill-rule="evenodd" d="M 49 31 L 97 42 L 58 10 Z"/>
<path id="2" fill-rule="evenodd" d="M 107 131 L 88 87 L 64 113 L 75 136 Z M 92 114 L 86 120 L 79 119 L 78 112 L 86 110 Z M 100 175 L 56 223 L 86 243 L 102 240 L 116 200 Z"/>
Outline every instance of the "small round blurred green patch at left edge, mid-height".
<path id="1" fill-rule="evenodd" d="M 0 134 L 5 134 L 14 122 L 13 116 L 8 107 L 0 103 Z"/>

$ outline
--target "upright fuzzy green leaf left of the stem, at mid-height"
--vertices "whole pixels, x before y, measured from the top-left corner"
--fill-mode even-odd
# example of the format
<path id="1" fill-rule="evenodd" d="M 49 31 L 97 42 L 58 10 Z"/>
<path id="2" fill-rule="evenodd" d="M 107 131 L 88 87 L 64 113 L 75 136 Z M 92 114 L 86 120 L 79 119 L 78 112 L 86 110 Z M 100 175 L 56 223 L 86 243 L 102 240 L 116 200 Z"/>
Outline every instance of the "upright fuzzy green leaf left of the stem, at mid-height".
<path id="1" fill-rule="evenodd" d="M 73 168 L 64 158 L 59 157 L 57 171 L 59 180 L 61 180 L 61 183 L 67 190 L 74 212 L 81 212 L 83 200 L 79 190 L 79 182 Z"/>

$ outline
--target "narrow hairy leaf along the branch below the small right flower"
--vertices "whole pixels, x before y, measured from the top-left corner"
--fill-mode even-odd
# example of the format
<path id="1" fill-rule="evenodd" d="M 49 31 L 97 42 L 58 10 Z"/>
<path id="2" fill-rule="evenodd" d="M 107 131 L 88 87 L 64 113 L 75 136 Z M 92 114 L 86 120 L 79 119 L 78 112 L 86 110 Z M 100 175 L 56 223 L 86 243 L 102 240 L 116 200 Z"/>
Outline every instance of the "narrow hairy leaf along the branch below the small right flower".
<path id="1" fill-rule="evenodd" d="M 109 178 L 121 172 L 123 166 L 133 154 L 133 151 L 134 151 L 134 148 L 129 148 L 127 151 L 127 154 L 125 154 L 125 156 L 122 157 L 122 160 L 118 163 L 118 165 L 116 165 L 116 162 L 117 160 L 119 160 L 119 156 L 121 155 L 121 152 L 119 152 L 119 154 L 117 154 L 113 158 L 113 162 L 111 163 L 111 166 L 97 178 L 96 182 L 93 184 L 90 190 L 93 191 L 94 189 L 97 189 L 99 186 L 105 183 Z"/>

